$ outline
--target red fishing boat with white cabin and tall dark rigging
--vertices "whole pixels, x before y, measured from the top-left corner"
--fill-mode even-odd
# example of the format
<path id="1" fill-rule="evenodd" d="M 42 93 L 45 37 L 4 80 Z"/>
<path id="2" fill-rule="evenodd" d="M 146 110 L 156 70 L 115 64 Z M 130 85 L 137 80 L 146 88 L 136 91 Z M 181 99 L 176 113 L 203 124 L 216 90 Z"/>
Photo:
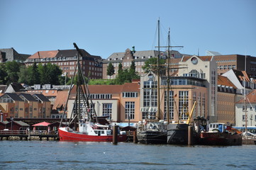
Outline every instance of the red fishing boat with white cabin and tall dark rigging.
<path id="1" fill-rule="evenodd" d="M 74 106 L 72 113 L 70 114 L 69 123 L 67 127 L 60 127 L 58 129 L 58 135 L 61 141 L 83 141 L 83 142 L 112 142 L 113 141 L 113 131 L 111 130 L 110 125 L 101 125 L 99 124 L 96 111 L 94 109 L 94 104 L 92 103 L 89 89 L 87 83 L 82 74 L 79 55 L 83 57 L 82 52 L 79 50 L 77 45 L 74 43 L 74 47 L 77 48 L 78 57 L 77 57 L 77 94 L 74 100 Z M 74 75 L 72 77 L 72 82 L 74 81 Z M 72 84 L 72 83 L 71 83 Z M 69 95 L 72 86 L 69 89 Z M 69 95 L 67 100 L 69 99 Z M 63 114 L 67 111 L 67 103 Z M 63 120 L 62 115 L 62 120 Z M 60 125 L 62 125 L 62 120 Z M 78 126 L 77 126 L 78 125 Z M 116 127 L 117 128 L 117 127 Z M 115 130 L 116 130 L 115 128 Z M 126 141 L 126 132 L 120 130 L 117 134 L 118 142 Z M 116 132 L 115 132 L 116 135 Z"/>

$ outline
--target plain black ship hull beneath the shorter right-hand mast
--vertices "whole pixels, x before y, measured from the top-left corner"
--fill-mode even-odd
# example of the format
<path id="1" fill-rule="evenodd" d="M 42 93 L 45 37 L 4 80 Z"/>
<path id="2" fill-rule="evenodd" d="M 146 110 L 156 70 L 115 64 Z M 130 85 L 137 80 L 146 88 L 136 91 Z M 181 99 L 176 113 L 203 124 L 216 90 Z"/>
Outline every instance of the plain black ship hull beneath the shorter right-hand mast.
<path id="1" fill-rule="evenodd" d="M 167 125 L 167 144 L 187 145 L 188 126 L 187 124 Z"/>

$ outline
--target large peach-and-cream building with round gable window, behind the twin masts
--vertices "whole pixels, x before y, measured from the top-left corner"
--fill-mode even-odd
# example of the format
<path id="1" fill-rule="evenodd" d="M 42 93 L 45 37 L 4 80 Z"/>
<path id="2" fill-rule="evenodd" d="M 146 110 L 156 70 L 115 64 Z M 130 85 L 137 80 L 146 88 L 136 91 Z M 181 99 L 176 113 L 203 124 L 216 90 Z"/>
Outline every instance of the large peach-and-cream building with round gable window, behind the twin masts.
<path id="1" fill-rule="evenodd" d="M 160 111 L 157 107 L 157 79 L 149 73 L 140 80 L 140 111 L 144 118 L 167 118 L 167 93 L 169 93 L 169 118 L 172 122 L 187 121 L 194 101 L 194 116 L 216 121 L 217 66 L 214 57 L 187 56 L 174 59 L 179 68 L 173 69 L 167 91 L 166 75 L 160 78 Z M 174 60 L 171 60 L 174 63 Z M 159 104 L 159 103 L 158 103 Z M 159 113 L 159 115 L 157 115 Z"/>

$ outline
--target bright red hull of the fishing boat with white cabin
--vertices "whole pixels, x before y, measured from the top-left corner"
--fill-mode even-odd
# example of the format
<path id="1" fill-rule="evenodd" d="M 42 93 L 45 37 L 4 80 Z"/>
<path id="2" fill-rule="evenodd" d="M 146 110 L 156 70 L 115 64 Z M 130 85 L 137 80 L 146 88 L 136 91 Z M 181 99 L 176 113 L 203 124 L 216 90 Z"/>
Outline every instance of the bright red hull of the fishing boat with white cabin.
<path id="1" fill-rule="evenodd" d="M 113 142 L 113 135 L 94 136 L 58 130 L 60 141 L 81 141 L 81 142 Z M 118 142 L 126 142 L 126 135 L 118 135 Z"/>

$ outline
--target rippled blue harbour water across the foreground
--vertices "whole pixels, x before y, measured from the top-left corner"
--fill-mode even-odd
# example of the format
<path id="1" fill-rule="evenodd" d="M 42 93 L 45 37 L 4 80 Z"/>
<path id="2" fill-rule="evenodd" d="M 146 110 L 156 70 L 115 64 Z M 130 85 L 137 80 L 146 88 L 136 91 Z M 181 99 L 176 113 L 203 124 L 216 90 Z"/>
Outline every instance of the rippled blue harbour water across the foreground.
<path id="1" fill-rule="evenodd" d="M 0 141 L 0 169 L 256 169 L 256 145 Z"/>

